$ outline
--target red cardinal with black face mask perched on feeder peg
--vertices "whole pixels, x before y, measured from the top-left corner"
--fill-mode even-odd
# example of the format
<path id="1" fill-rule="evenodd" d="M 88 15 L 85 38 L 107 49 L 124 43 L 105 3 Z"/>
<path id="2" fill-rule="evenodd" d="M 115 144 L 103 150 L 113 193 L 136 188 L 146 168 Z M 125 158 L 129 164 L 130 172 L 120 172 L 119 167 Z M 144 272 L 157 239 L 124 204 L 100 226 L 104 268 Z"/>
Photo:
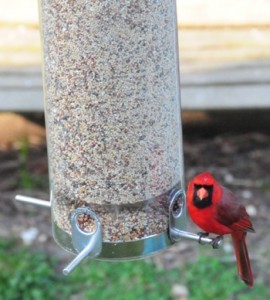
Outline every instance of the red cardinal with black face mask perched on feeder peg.
<path id="1" fill-rule="evenodd" d="M 209 172 L 204 172 L 189 182 L 187 208 L 193 222 L 206 233 L 232 235 L 238 275 L 252 287 L 253 275 L 245 238 L 247 232 L 255 230 L 245 207 Z"/>

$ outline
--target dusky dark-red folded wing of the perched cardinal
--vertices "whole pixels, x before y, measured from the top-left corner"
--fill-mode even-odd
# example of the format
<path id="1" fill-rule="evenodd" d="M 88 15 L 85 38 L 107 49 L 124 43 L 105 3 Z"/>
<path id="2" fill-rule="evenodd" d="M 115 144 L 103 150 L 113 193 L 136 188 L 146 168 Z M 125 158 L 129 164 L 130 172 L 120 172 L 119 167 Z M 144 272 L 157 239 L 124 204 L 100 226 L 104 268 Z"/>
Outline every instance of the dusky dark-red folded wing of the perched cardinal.
<path id="1" fill-rule="evenodd" d="M 234 194 L 223 187 L 222 200 L 217 207 L 217 220 L 236 231 L 254 232 L 246 209 L 235 198 Z"/>

